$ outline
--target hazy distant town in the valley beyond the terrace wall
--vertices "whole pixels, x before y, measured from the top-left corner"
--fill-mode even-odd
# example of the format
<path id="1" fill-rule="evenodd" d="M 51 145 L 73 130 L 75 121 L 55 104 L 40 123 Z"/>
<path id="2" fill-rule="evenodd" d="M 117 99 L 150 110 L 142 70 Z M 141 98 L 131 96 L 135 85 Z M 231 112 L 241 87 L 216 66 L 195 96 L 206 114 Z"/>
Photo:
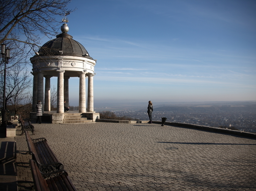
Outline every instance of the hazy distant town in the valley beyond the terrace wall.
<path id="1" fill-rule="evenodd" d="M 120 107 L 120 106 L 119 106 Z M 138 107 L 138 105 L 137 105 Z M 149 120 L 146 109 L 114 109 L 111 107 L 98 108 L 100 111 L 112 111 L 117 116 L 126 116 L 137 120 Z M 145 107 L 144 107 L 145 108 Z M 95 109 L 97 110 L 97 109 Z M 167 121 L 205 125 L 211 127 L 233 127 L 235 129 L 256 133 L 256 102 L 227 102 L 227 103 L 199 103 L 199 104 L 162 104 L 154 105 L 152 118 Z"/>

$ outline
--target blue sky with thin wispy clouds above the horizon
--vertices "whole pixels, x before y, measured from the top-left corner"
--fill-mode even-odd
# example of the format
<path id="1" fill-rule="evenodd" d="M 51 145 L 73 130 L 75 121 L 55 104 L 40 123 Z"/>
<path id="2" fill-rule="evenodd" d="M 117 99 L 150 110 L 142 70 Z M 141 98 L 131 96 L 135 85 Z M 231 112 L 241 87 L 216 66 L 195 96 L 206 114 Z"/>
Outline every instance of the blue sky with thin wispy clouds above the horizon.
<path id="1" fill-rule="evenodd" d="M 75 7 L 68 33 L 97 59 L 94 103 L 256 100 L 256 1 L 73 0 Z M 75 106 L 79 78 L 69 83 Z"/>

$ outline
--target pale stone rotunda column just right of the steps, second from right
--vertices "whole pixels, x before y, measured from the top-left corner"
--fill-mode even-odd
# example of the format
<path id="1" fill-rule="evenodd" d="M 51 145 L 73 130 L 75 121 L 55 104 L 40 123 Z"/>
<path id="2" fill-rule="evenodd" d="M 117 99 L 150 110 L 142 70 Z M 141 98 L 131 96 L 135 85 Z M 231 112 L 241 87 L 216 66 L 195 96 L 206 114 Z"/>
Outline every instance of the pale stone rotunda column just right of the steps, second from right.
<path id="1" fill-rule="evenodd" d="M 85 72 L 80 72 L 79 79 L 79 112 L 86 112 L 86 90 L 85 90 Z"/>

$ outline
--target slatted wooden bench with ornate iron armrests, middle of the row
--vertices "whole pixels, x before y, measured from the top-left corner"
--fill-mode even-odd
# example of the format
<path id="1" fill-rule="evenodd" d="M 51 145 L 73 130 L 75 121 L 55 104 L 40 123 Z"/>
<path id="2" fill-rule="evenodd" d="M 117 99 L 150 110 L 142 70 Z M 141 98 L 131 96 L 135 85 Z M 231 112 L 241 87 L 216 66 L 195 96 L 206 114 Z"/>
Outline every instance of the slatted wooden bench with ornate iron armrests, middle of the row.
<path id="1" fill-rule="evenodd" d="M 41 173 L 53 173 L 64 169 L 63 164 L 58 160 L 53 150 L 51 150 L 45 138 L 31 139 L 27 131 L 25 131 L 25 135 L 28 152 L 32 154 L 32 159 L 36 161 Z"/>

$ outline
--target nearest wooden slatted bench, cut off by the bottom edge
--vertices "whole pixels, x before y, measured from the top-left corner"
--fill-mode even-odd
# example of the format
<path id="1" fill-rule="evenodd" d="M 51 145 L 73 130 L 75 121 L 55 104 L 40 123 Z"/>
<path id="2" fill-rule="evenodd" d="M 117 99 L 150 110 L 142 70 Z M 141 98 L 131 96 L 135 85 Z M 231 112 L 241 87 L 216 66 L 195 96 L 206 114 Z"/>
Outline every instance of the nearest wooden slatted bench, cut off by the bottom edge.
<path id="1" fill-rule="evenodd" d="M 36 191 L 76 191 L 73 183 L 65 170 L 59 170 L 58 174 L 44 174 L 48 179 L 44 179 L 34 160 L 30 160 L 30 167 Z"/>

